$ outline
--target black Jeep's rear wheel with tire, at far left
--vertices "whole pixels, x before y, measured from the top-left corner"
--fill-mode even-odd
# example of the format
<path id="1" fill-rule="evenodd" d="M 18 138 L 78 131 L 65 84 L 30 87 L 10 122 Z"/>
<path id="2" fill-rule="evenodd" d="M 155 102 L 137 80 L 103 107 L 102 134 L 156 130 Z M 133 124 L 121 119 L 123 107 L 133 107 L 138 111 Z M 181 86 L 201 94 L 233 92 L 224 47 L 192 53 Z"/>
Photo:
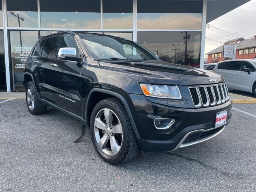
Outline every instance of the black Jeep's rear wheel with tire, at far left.
<path id="1" fill-rule="evenodd" d="M 32 115 L 39 115 L 46 112 L 47 106 L 44 106 L 40 101 L 33 81 L 28 82 L 26 86 L 26 103 L 28 111 Z"/>

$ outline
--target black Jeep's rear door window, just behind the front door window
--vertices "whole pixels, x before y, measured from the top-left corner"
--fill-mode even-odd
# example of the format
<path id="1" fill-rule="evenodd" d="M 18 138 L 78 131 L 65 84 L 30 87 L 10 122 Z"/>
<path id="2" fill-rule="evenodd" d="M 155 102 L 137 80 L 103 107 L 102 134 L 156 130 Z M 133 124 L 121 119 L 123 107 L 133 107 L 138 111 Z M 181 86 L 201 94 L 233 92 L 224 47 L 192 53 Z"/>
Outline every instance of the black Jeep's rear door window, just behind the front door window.
<path id="1" fill-rule="evenodd" d="M 56 58 L 55 48 L 58 42 L 58 37 L 53 37 L 45 40 L 42 56 L 47 58 Z"/>

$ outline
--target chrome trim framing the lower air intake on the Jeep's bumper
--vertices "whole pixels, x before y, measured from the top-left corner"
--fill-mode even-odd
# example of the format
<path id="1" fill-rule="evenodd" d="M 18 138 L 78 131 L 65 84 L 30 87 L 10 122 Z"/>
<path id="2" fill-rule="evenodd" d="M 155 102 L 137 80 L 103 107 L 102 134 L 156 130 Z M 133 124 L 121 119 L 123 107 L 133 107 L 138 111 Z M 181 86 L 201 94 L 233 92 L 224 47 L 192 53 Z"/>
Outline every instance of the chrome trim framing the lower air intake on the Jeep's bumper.
<path id="1" fill-rule="evenodd" d="M 182 148 L 182 147 L 186 147 L 186 146 L 198 144 L 198 143 L 204 142 L 204 141 L 206 141 L 206 140 L 208 140 L 208 139 L 211 139 L 211 138 L 217 136 L 218 134 L 220 134 L 220 133 L 224 130 L 224 128 L 226 127 L 226 124 L 227 124 L 229 121 L 230 121 L 230 119 L 229 119 L 225 124 L 222 124 L 222 125 L 219 125 L 219 126 L 216 126 L 216 127 L 214 127 L 214 128 L 207 129 L 207 130 L 205 130 L 205 129 L 199 129 L 199 130 L 194 130 L 194 131 L 188 132 L 188 133 L 182 138 L 182 140 L 179 142 L 179 144 L 176 146 L 176 148 L 174 148 L 174 150 L 172 150 L 172 151 L 175 151 L 175 150 L 177 150 L 178 148 Z M 216 132 L 215 134 L 212 134 L 211 136 L 208 136 L 208 137 L 203 138 L 203 139 L 200 139 L 200 140 L 196 140 L 196 141 L 194 141 L 194 142 L 189 142 L 189 143 L 183 144 L 183 142 L 186 140 L 186 138 L 187 138 L 190 134 L 192 134 L 192 133 L 194 133 L 194 132 L 200 132 L 200 131 L 201 131 L 201 132 L 206 132 L 206 131 L 210 131 L 210 130 L 219 128 L 219 127 L 221 127 L 221 126 L 223 126 L 223 128 L 222 128 L 221 130 L 219 130 L 218 132 Z"/>

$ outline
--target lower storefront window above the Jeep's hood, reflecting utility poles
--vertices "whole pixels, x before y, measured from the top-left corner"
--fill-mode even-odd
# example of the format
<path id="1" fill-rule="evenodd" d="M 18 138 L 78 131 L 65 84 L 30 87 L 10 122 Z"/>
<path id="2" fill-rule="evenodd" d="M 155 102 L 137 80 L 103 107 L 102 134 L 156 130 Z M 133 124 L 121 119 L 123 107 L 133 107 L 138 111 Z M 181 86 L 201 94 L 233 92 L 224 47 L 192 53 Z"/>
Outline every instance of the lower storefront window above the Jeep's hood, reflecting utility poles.
<path id="1" fill-rule="evenodd" d="M 200 66 L 201 32 L 138 31 L 137 42 L 166 62 Z"/>

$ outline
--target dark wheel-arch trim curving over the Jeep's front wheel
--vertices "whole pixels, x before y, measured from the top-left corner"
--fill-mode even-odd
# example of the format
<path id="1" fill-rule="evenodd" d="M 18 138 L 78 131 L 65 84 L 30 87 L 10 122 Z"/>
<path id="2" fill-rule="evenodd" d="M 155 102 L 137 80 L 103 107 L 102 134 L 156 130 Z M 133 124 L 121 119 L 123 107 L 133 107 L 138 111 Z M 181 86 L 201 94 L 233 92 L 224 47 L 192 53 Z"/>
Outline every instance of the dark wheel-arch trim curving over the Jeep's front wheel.
<path id="1" fill-rule="evenodd" d="M 134 120 L 133 120 L 133 118 L 132 118 L 132 113 L 131 113 L 131 111 L 130 111 L 130 108 L 129 108 L 129 106 L 128 106 L 126 100 L 124 99 L 124 97 L 123 97 L 122 95 L 120 95 L 120 94 L 118 94 L 118 93 L 116 93 L 116 92 L 112 92 L 112 91 L 110 91 L 110 90 L 100 89 L 100 88 L 93 88 L 93 89 L 90 91 L 90 93 L 89 93 L 89 95 L 88 95 L 88 99 L 87 99 L 87 101 L 86 101 L 86 110 L 85 110 L 85 119 L 86 119 L 86 122 L 88 122 L 88 121 L 87 121 L 87 116 L 88 116 L 88 114 L 87 114 L 87 111 L 88 111 L 88 110 L 87 110 L 87 108 L 88 108 L 88 101 L 90 100 L 91 94 L 94 93 L 94 92 L 102 92 L 102 93 L 109 94 L 109 95 L 112 95 L 112 96 L 114 96 L 114 97 L 120 99 L 120 100 L 122 101 L 122 103 L 124 104 L 124 108 L 126 109 L 126 111 L 127 111 L 127 113 L 128 113 L 130 122 L 131 122 L 131 124 L 132 124 L 132 129 L 133 129 L 133 131 L 134 131 L 134 134 L 135 134 L 136 138 L 140 138 L 139 133 L 138 133 L 138 130 L 137 130 L 137 127 L 136 127 L 135 122 L 134 122 Z"/>

